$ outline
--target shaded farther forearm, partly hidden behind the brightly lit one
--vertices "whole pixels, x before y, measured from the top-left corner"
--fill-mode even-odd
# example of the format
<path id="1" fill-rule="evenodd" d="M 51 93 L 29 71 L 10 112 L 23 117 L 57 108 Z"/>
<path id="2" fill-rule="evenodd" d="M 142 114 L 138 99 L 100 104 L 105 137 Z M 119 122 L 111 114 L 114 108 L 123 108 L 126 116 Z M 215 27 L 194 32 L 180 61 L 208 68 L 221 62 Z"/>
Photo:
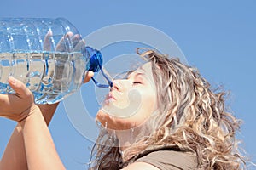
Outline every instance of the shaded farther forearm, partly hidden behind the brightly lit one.
<path id="1" fill-rule="evenodd" d="M 47 125 L 51 121 L 58 103 L 54 105 L 39 105 Z M 0 170 L 27 169 L 26 151 L 23 141 L 21 127 L 16 126 L 9 139 L 6 149 L 4 150 L 0 162 Z"/>

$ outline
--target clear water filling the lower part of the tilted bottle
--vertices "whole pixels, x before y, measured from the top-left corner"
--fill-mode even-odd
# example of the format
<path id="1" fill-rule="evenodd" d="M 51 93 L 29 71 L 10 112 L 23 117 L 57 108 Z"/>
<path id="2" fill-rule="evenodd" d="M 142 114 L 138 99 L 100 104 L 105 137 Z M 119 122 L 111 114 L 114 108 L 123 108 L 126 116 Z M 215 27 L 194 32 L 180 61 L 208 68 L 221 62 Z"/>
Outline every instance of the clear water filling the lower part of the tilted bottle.
<path id="1" fill-rule="evenodd" d="M 36 103 L 55 103 L 79 89 L 87 62 L 77 52 L 0 53 L 0 93 L 15 93 L 8 83 L 13 76 L 32 91 Z"/>

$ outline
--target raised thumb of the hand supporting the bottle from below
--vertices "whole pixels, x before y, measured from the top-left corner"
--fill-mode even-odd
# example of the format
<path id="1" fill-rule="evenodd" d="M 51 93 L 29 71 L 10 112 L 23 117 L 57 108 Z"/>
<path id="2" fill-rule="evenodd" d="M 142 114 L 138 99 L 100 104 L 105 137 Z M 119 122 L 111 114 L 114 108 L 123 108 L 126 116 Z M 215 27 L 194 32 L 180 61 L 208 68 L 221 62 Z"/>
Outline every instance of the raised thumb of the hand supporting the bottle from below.
<path id="1" fill-rule="evenodd" d="M 8 82 L 10 87 L 15 90 L 16 94 L 18 94 L 20 98 L 26 98 L 27 96 L 31 95 L 31 91 L 26 88 L 23 82 L 20 82 L 14 77 L 9 77 Z"/>

